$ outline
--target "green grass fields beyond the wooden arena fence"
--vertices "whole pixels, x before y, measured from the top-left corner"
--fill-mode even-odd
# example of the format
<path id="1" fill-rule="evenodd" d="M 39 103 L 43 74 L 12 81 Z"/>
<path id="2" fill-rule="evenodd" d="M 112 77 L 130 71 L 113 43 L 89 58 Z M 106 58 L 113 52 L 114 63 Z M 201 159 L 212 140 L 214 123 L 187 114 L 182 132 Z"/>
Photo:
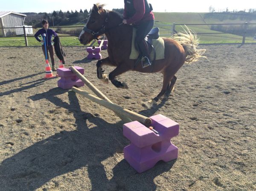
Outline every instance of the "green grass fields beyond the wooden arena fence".
<path id="1" fill-rule="evenodd" d="M 214 24 L 214 23 L 241 23 L 243 24 L 243 20 L 217 20 L 215 18 L 207 18 L 204 19 L 204 14 L 206 13 L 157 13 L 155 12 L 155 26 L 159 26 L 160 28 L 160 36 L 161 37 L 171 37 L 172 35 L 172 26 L 173 23 L 175 23 L 175 30 L 176 31 L 182 31 L 182 26 L 180 24 L 187 24 L 189 29 L 192 29 L 195 31 L 195 33 L 198 36 L 199 43 L 200 44 L 208 44 L 208 43 L 242 43 L 243 37 L 241 35 L 235 35 L 235 34 L 217 34 L 218 31 L 211 30 L 210 25 L 194 25 L 194 24 Z M 250 23 L 256 23 L 255 20 L 250 20 Z M 193 25 L 191 25 L 193 24 Z M 241 27 L 241 24 L 237 27 Z M 74 25 L 74 26 L 82 26 L 83 25 Z M 255 25 L 256 26 L 256 25 Z M 255 27 L 253 25 L 248 26 Z M 57 28 L 52 27 L 54 30 L 58 30 Z M 79 28 L 61 28 L 59 29 L 61 33 L 65 32 L 68 33 L 69 31 L 74 30 L 81 30 Z M 33 32 L 35 32 L 38 29 L 33 29 Z M 198 33 L 216 33 L 216 34 L 198 34 Z M 77 37 L 69 36 L 67 34 L 59 34 L 59 36 L 65 36 L 60 37 L 61 44 L 63 46 L 83 46 L 79 43 L 79 40 Z M 247 34 L 247 37 L 245 39 L 245 43 L 256 43 L 256 41 L 253 41 L 253 37 L 256 36 L 255 34 Z M 34 37 L 28 37 L 28 44 L 29 46 L 41 46 L 38 41 L 35 40 Z M 94 46 L 97 46 L 98 44 L 95 43 Z M 1 37 L 0 38 L 0 46 L 26 46 L 24 37 Z"/>

